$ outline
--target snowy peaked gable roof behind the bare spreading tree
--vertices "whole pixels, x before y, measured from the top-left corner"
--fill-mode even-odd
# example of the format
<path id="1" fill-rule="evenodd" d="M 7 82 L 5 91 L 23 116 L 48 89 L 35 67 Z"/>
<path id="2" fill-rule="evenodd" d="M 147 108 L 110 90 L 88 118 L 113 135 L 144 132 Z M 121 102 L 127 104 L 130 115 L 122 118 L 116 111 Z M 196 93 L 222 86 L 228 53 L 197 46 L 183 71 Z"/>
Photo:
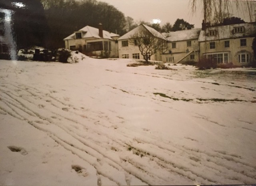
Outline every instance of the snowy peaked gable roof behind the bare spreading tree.
<path id="1" fill-rule="evenodd" d="M 131 31 L 127 32 L 126 34 L 124 34 L 123 36 L 121 36 L 120 38 L 118 38 L 118 40 L 121 39 L 130 39 L 132 38 L 132 35 L 134 35 L 135 33 L 138 33 L 140 31 L 143 30 L 147 30 L 150 33 L 152 33 L 153 35 L 155 35 L 156 37 L 160 38 L 160 39 L 164 39 L 167 40 L 161 33 L 159 33 L 158 31 L 156 31 L 154 28 L 149 27 L 147 25 L 144 24 L 140 24 L 139 26 L 137 26 L 136 28 L 132 29 Z"/>

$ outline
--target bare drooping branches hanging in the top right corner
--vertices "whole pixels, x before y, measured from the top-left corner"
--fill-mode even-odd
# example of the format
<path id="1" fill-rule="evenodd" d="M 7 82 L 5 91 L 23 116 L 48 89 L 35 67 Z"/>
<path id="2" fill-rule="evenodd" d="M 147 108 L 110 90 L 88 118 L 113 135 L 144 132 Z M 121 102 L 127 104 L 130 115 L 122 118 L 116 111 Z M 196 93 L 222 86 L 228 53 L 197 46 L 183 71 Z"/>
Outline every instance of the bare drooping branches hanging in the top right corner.
<path id="1" fill-rule="evenodd" d="M 206 23 L 213 23 L 214 20 L 221 22 L 224 18 L 232 16 L 234 9 L 240 14 L 248 14 L 250 22 L 254 21 L 252 12 L 256 10 L 256 1 L 253 0 L 190 0 L 190 3 L 193 13 L 197 11 L 198 4 L 202 6 Z"/>

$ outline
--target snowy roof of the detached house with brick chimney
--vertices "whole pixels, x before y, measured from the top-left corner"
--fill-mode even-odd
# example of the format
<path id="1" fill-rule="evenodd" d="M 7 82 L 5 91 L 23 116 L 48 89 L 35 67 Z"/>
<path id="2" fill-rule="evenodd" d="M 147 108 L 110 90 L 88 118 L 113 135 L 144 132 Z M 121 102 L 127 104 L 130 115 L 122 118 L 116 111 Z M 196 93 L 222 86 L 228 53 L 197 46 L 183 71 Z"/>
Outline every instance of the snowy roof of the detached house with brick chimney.
<path id="1" fill-rule="evenodd" d="M 82 29 L 80 29 L 79 31 L 82 31 L 82 38 L 88 38 L 88 37 L 102 38 L 99 36 L 98 28 L 86 26 L 86 27 L 83 27 Z M 76 33 L 79 31 L 76 31 Z M 116 36 L 119 36 L 119 35 L 115 34 L 115 33 L 108 32 L 106 30 L 103 30 L 103 38 L 104 39 L 112 39 L 112 37 L 116 37 Z M 75 33 L 72 33 L 71 35 L 66 37 L 64 40 L 66 40 L 66 39 L 75 39 Z"/>

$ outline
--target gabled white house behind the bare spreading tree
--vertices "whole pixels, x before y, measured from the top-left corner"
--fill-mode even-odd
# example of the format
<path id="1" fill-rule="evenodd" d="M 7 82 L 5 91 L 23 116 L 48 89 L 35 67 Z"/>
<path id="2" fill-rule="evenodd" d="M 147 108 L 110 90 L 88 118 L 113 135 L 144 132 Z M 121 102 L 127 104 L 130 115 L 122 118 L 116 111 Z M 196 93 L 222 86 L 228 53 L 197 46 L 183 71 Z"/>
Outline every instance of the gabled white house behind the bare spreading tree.
<path id="1" fill-rule="evenodd" d="M 167 42 L 167 39 L 161 33 L 156 31 L 152 27 L 141 24 L 118 38 L 119 58 L 143 59 L 143 55 L 141 54 L 139 47 L 136 45 L 136 43 L 133 43 L 132 41 L 132 37 L 134 37 L 134 34 L 141 32 L 147 33 L 147 35 L 154 35 L 154 37 L 162 39 L 164 43 Z M 162 61 L 162 53 L 162 50 L 158 51 L 155 55 L 152 55 L 150 57 L 150 60 Z"/>

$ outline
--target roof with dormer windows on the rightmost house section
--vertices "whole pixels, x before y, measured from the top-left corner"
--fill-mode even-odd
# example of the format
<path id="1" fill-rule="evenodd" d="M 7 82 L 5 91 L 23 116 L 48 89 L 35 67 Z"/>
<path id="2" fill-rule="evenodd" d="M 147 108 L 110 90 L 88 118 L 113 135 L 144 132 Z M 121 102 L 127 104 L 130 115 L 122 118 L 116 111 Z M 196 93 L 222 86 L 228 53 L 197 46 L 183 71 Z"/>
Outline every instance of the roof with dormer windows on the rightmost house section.
<path id="1" fill-rule="evenodd" d="M 244 31 L 241 33 L 234 33 L 234 27 L 244 27 Z M 209 36 L 209 31 L 215 30 L 216 35 Z M 198 39 L 198 42 L 202 41 L 214 41 L 221 39 L 235 39 L 242 37 L 255 37 L 256 36 L 256 22 L 252 23 L 240 23 L 234 25 L 224 25 L 217 27 L 208 27 L 206 30 L 202 30 Z"/>

